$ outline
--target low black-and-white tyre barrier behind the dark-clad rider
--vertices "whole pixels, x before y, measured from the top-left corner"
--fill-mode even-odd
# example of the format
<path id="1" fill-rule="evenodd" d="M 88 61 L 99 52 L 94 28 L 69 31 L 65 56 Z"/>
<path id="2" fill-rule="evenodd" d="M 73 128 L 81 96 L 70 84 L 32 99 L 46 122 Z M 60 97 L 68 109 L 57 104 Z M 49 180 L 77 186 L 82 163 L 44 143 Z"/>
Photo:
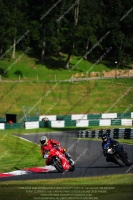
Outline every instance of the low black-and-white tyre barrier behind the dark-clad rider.
<path id="1" fill-rule="evenodd" d="M 78 138 L 101 138 L 103 133 L 108 133 L 114 139 L 133 139 L 133 128 L 81 130 L 78 131 Z"/>

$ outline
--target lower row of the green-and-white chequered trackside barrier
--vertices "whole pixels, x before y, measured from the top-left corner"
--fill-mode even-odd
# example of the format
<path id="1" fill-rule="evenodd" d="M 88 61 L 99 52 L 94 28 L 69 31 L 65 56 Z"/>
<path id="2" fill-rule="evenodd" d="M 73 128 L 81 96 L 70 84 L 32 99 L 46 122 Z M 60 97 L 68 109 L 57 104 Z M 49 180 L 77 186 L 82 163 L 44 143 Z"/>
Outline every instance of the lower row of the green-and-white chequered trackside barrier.
<path id="1" fill-rule="evenodd" d="M 24 123 L 0 123 L 0 130 L 4 129 L 14 129 L 22 128 L 33 129 L 33 128 L 63 128 L 63 127 L 90 127 L 90 126 L 132 126 L 133 119 L 121 119 L 121 120 L 110 120 L 110 119 L 101 119 L 101 120 L 54 120 L 54 121 L 30 121 Z"/>

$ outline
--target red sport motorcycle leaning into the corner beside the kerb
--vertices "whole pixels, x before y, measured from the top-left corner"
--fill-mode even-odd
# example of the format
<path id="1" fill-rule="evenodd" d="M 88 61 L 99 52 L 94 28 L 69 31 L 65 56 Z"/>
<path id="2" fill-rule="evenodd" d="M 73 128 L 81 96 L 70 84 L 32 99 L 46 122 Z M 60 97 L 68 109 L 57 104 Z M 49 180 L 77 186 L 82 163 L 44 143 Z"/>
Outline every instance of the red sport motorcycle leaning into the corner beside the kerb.
<path id="1" fill-rule="evenodd" d="M 72 158 L 67 158 L 64 153 L 53 147 L 48 153 L 49 163 L 53 165 L 58 172 L 74 171 L 75 165 Z"/>

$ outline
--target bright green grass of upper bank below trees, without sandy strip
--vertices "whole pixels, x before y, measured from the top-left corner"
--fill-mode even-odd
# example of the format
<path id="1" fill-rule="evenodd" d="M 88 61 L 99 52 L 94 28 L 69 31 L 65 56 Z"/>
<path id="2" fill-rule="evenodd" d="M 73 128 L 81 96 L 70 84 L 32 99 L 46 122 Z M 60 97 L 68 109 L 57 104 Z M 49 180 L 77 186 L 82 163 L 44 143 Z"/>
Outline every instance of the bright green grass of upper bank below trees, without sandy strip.
<path id="1" fill-rule="evenodd" d="M 39 80 L 55 80 L 55 76 L 57 80 L 70 79 L 74 74 L 78 74 L 80 76 L 82 73 L 86 73 L 97 60 L 96 59 L 93 63 L 83 60 L 80 56 L 72 56 L 70 61 L 70 68 L 73 68 L 75 65 L 77 66 L 74 67 L 71 71 L 65 69 L 65 62 L 67 59 L 67 55 L 65 54 L 60 55 L 59 58 L 46 58 L 44 64 L 40 64 L 38 59 L 29 57 L 22 53 L 23 52 L 16 52 L 15 59 L 4 58 L 0 61 L 0 65 L 3 69 L 7 70 L 10 68 L 10 70 L 8 70 L 8 78 L 16 79 L 18 76 L 15 75 L 14 72 L 16 70 L 21 70 L 23 72 L 23 80 L 36 80 L 37 75 Z M 15 61 L 17 61 L 16 64 Z M 90 72 L 102 72 L 103 70 L 109 71 L 110 69 L 106 66 L 106 64 L 101 62 L 93 67 Z"/>

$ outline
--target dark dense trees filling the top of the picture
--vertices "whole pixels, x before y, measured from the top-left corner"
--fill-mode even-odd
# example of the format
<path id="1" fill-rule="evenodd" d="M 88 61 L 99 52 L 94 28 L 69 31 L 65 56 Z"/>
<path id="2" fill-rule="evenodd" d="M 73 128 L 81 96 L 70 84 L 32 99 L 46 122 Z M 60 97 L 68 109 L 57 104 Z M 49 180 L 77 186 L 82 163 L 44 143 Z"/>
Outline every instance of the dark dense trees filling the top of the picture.
<path id="1" fill-rule="evenodd" d="M 90 54 L 86 54 L 109 31 Z M 133 60 L 133 0 L 0 0 L 0 60 L 31 48 L 42 62 L 66 53 L 90 60 L 112 47 L 107 59 Z"/>

